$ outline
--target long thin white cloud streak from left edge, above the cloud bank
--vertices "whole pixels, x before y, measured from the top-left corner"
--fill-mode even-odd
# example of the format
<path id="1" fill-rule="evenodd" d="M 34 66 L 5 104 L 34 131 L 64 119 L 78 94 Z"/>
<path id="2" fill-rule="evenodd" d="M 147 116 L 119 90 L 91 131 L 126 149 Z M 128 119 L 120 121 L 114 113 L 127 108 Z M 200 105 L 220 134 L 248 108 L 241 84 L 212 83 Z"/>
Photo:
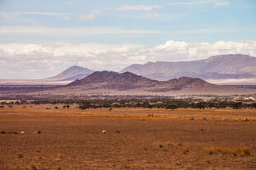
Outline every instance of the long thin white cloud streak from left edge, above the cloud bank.
<path id="1" fill-rule="evenodd" d="M 52 37 L 89 36 L 98 34 L 159 34 L 154 30 L 125 30 L 118 27 L 42 27 L 0 26 L 0 35 L 37 35 Z"/>

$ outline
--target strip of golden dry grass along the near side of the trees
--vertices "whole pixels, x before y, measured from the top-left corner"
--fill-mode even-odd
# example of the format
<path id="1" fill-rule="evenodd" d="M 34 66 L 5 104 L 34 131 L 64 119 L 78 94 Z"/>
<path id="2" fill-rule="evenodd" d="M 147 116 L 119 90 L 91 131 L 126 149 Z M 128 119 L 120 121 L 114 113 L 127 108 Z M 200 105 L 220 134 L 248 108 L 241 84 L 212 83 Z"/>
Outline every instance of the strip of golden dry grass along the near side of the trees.
<path id="1" fill-rule="evenodd" d="M 255 109 L 196 109 L 178 108 L 173 111 L 164 108 L 96 108 L 81 110 L 77 104 L 70 105 L 70 108 L 63 108 L 62 104 L 40 104 L 40 105 L 14 105 L 12 108 L 0 108 L 0 117 L 108 117 L 144 120 L 204 120 L 218 121 L 239 120 L 249 118 L 249 122 L 256 122 Z M 46 109 L 58 108 L 58 109 Z M 148 117 L 148 114 L 154 117 Z"/>

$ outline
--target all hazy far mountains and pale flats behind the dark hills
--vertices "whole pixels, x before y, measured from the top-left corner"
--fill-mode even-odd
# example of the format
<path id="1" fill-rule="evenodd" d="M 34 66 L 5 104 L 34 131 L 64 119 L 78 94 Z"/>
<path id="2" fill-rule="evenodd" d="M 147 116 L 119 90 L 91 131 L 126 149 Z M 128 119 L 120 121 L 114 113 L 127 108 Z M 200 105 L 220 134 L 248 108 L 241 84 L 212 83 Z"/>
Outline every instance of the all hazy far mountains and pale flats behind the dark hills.
<path id="1" fill-rule="evenodd" d="M 183 76 L 200 78 L 210 82 L 234 82 L 243 80 L 243 84 L 256 82 L 256 57 L 243 54 L 228 54 L 209 57 L 204 60 L 187 62 L 147 62 L 133 64 L 119 71 L 129 71 L 153 80 L 170 80 Z M 94 72 L 91 69 L 73 66 L 46 79 L 39 80 L 0 80 L 0 84 L 55 84 L 66 85 L 73 80 L 80 80 Z M 249 81 L 251 80 L 251 81 Z M 232 81 L 231 81 L 232 82 Z M 231 83 L 232 84 L 232 83 Z"/>

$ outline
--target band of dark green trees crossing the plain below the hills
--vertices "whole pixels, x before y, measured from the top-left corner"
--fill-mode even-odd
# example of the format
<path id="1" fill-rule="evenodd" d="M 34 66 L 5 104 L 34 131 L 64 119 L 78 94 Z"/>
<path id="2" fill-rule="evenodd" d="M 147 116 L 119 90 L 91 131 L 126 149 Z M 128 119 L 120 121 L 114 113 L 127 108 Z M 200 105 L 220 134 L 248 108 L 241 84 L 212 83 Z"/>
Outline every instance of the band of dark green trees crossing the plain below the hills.
<path id="1" fill-rule="evenodd" d="M 69 99 L 69 100 L 20 100 L 16 102 L 6 103 L 2 105 L 13 104 L 64 104 L 63 108 L 69 108 L 74 103 L 79 105 L 81 109 L 88 108 L 256 108 L 256 103 L 242 103 L 230 101 L 212 100 L 205 102 L 201 99 Z"/>

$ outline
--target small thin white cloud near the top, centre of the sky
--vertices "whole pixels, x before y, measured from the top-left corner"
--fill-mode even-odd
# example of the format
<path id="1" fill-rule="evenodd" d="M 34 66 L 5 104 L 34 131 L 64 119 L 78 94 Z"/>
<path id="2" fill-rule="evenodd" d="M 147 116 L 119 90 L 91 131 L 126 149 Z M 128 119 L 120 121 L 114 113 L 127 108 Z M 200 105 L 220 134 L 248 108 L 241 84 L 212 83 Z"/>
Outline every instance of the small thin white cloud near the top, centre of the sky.
<path id="1" fill-rule="evenodd" d="M 120 7 L 104 7 L 107 10 L 118 10 L 118 11 L 150 11 L 153 9 L 162 8 L 158 5 L 146 6 L 146 5 L 123 5 Z"/>

